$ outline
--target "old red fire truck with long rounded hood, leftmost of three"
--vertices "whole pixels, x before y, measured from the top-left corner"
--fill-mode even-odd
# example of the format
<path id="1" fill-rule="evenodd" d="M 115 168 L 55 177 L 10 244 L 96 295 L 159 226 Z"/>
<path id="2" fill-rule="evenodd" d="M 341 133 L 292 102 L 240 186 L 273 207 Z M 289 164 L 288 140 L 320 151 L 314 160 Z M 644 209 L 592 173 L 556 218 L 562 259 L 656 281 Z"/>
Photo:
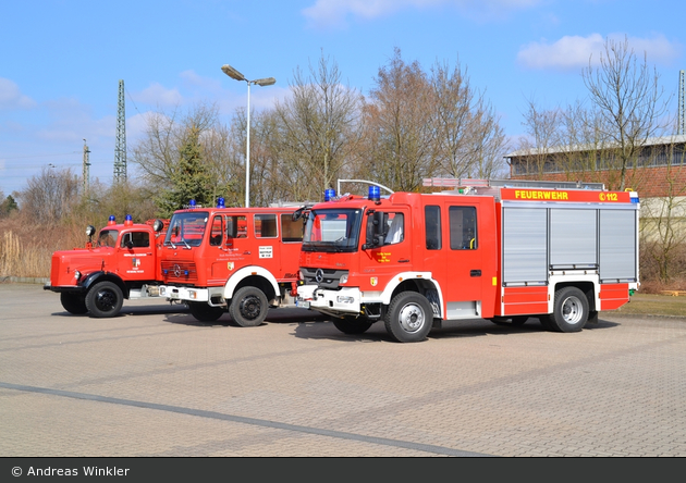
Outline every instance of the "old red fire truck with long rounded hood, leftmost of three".
<path id="1" fill-rule="evenodd" d="M 124 299 L 156 296 L 160 280 L 158 251 L 164 222 L 150 220 L 123 224 L 112 215 L 93 242 L 96 228 L 88 225 L 85 248 L 52 253 L 50 282 L 44 288 L 60 294 L 62 307 L 94 318 L 117 315 Z"/>

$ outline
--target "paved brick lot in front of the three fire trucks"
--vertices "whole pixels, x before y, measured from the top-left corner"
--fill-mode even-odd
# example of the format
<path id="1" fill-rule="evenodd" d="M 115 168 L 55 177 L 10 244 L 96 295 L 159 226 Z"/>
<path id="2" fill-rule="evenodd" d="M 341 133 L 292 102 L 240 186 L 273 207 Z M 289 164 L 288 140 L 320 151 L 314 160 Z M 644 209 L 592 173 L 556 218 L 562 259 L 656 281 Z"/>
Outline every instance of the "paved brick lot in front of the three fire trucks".
<path id="1" fill-rule="evenodd" d="M 684 319 L 469 321 L 396 344 L 313 315 L 241 329 L 127 301 L 90 319 L 0 284 L 0 455 L 686 456 Z"/>

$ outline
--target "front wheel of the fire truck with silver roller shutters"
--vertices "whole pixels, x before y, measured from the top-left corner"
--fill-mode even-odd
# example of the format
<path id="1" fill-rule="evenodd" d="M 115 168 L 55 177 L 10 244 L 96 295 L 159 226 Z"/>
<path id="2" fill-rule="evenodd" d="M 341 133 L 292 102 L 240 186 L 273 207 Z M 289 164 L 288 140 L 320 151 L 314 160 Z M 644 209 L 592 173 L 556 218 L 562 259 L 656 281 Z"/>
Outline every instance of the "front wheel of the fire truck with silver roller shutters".
<path id="1" fill-rule="evenodd" d="M 395 342 L 421 342 L 431 332 L 433 310 L 424 295 L 403 292 L 391 300 L 383 322 Z"/>

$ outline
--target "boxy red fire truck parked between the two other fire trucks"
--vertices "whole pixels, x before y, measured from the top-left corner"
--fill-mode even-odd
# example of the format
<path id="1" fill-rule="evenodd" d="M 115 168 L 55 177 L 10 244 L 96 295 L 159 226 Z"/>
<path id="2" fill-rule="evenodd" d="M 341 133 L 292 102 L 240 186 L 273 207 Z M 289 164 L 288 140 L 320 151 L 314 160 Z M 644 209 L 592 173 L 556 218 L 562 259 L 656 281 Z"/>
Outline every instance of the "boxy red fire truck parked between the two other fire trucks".
<path id="1" fill-rule="evenodd" d="M 295 307 L 303 221 L 297 207 L 174 212 L 160 252 L 159 295 L 184 302 L 199 321 L 229 311 L 240 326 L 264 322 L 269 307 Z"/>

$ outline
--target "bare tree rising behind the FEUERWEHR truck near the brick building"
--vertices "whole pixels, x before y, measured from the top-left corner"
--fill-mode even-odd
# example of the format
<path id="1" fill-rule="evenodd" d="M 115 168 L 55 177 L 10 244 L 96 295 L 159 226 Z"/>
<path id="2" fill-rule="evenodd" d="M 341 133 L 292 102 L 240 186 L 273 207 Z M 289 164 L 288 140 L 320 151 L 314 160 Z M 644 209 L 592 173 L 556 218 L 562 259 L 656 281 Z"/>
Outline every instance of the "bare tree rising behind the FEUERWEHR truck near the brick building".
<path id="1" fill-rule="evenodd" d="M 657 136 L 666 127 L 663 115 L 669 99 L 659 86 L 657 70 L 648 67 L 647 55 L 638 63 L 628 39 L 605 39 L 600 54 L 600 66 L 581 73 L 591 102 L 603 117 L 602 135 L 614 145 L 618 163 L 620 185 L 624 189 L 627 169 L 636 166 L 636 160 L 649 137 Z"/>

